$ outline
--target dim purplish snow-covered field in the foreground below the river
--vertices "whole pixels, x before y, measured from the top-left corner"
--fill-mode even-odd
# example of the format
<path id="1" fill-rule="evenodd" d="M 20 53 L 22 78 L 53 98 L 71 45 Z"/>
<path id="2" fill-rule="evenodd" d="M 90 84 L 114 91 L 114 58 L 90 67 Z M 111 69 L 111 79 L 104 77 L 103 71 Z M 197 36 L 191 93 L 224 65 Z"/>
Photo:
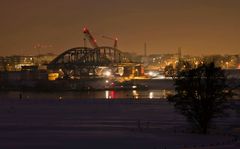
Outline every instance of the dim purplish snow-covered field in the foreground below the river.
<path id="1" fill-rule="evenodd" d="M 198 135 L 163 100 L 1 98 L 0 149 L 239 149 L 234 111 Z"/>

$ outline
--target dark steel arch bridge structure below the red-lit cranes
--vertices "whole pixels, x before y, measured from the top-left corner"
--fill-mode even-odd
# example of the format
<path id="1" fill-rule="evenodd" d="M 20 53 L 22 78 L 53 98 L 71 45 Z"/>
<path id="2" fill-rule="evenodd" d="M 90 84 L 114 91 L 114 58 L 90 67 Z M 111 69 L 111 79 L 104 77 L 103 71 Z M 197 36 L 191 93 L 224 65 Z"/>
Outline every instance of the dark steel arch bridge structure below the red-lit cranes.
<path id="1" fill-rule="evenodd" d="M 129 62 L 131 62 L 130 58 L 113 47 L 95 49 L 76 47 L 57 56 L 49 63 L 48 69 L 62 69 L 64 72 L 71 71 L 74 74 L 87 75 L 89 72 L 94 72 L 94 69 L 99 66 L 112 67 Z"/>

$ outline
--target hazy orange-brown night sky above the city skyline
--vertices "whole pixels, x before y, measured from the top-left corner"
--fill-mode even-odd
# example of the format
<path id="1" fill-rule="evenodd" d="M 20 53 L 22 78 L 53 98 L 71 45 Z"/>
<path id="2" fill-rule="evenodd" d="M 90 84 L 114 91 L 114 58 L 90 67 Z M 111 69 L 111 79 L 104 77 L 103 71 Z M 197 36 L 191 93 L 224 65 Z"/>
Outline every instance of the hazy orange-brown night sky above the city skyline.
<path id="1" fill-rule="evenodd" d="M 83 46 L 87 26 L 99 45 L 143 53 L 240 54 L 240 0 L 0 0 L 0 55 Z"/>

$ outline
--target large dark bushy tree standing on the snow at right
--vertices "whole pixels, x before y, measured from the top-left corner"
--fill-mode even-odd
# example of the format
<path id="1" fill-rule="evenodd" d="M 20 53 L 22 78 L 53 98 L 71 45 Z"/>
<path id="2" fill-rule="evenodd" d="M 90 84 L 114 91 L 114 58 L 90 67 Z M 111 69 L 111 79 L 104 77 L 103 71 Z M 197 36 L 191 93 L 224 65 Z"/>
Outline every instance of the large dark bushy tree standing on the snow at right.
<path id="1" fill-rule="evenodd" d="M 214 63 L 178 72 L 175 91 L 169 101 L 200 133 L 207 133 L 211 120 L 223 116 L 228 107 L 225 76 Z"/>

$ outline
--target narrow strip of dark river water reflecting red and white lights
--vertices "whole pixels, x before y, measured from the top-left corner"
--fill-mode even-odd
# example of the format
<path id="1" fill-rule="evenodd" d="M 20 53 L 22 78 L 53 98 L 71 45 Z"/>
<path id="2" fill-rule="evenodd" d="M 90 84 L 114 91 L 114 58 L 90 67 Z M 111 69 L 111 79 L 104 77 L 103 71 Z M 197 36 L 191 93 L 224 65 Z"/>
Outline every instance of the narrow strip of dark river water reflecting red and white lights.
<path id="1" fill-rule="evenodd" d="M 89 91 L 89 92 L 0 92 L 0 99 L 18 99 L 22 94 L 23 99 L 166 99 L 173 90 L 129 90 L 129 91 Z"/>

